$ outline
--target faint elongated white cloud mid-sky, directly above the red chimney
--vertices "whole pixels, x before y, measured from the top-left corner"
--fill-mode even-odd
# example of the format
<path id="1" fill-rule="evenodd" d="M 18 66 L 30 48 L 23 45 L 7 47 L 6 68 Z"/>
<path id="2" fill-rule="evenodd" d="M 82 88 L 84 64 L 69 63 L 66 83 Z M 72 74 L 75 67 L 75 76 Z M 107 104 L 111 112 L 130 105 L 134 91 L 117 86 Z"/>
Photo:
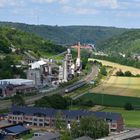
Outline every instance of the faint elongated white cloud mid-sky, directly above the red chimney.
<path id="1" fill-rule="evenodd" d="M 72 14 L 79 14 L 79 15 L 90 15 L 90 14 L 97 14 L 98 11 L 91 8 L 80 8 L 80 7 L 71 7 L 71 6 L 64 6 L 62 8 L 63 12 L 72 13 Z"/>

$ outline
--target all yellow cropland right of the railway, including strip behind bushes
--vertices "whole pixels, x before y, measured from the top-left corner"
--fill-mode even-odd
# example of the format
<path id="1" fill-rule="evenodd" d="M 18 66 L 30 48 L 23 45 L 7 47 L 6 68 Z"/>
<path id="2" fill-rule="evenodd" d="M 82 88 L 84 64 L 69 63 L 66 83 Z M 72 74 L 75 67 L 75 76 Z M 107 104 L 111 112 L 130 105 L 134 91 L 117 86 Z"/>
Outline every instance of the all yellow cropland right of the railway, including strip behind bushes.
<path id="1" fill-rule="evenodd" d="M 102 83 L 98 85 L 96 88 L 90 90 L 90 92 L 140 97 L 140 77 L 115 76 L 116 71 L 120 69 L 123 72 L 131 71 L 133 75 L 140 74 L 140 69 L 120 65 L 117 63 L 112 63 L 109 61 L 98 60 L 98 59 L 96 60 L 102 62 L 102 64 L 105 66 L 113 67 L 113 73 L 108 78 L 103 80 Z"/>

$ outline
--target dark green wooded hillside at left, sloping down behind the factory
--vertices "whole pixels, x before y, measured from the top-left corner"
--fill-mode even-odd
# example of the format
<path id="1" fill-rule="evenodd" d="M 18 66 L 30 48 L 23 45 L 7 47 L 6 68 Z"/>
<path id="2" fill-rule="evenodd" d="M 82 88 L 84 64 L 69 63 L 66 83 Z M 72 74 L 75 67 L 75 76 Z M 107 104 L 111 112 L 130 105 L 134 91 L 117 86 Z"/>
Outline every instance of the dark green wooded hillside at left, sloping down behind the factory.
<path id="1" fill-rule="evenodd" d="M 0 53 L 10 53 L 11 46 L 46 54 L 58 54 L 65 50 L 65 47 L 55 45 L 33 33 L 15 28 L 0 27 Z"/>

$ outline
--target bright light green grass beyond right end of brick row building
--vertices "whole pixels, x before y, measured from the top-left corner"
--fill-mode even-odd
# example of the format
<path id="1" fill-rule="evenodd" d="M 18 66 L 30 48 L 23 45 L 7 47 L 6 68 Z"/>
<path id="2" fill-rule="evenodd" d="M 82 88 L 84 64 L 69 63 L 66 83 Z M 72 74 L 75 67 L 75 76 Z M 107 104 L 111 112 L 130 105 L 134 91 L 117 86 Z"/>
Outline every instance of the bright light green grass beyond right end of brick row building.
<path id="1" fill-rule="evenodd" d="M 138 127 L 140 128 L 140 111 L 126 111 L 122 108 L 113 108 L 107 107 L 104 110 L 105 112 L 118 112 L 121 113 L 124 118 L 124 123 L 126 127 Z"/>

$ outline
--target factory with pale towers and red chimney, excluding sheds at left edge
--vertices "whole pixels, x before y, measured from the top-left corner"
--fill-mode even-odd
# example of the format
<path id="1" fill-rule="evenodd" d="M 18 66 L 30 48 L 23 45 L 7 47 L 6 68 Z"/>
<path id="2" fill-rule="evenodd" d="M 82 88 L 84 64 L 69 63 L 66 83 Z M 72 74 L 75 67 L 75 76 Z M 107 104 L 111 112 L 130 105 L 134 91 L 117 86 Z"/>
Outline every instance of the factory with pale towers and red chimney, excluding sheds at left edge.
<path id="1" fill-rule="evenodd" d="M 62 65 L 56 65 L 52 59 L 41 59 L 29 64 L 27 79 L 33 80 L 37 88 L 58 86 L 79 75 L 82 70 L 80 43 L 77 44 L 77 59 L 74 62 L 71 49 L 67 49 Z M 53 69 L 56 73 L 53 73 Z"/>

